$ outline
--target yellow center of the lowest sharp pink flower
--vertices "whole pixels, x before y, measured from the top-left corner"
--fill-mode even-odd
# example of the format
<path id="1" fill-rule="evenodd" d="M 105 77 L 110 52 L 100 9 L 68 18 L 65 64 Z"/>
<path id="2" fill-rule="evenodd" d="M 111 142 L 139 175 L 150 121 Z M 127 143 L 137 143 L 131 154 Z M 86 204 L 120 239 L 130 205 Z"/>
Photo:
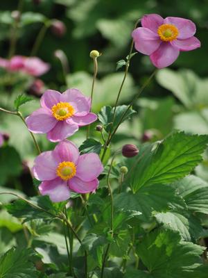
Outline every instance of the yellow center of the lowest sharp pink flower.
<path id="1" fill-rule="evenodd" d="M 71 161 L 63 161 L 56 168 L 56 174 L 64 181 L 67 181 L 67 179 L 71 179 L 76 174 L 76 165 Z"/>

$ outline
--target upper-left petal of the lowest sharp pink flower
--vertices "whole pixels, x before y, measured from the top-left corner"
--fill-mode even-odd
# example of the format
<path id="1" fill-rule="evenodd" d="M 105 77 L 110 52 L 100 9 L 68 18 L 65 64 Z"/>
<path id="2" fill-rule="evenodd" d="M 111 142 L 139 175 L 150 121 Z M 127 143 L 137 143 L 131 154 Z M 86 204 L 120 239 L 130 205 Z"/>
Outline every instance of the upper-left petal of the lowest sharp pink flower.
<path id="1" fill-rule="evenodd" d="M 57 177 L 56 168 L 58 163 L 60 163 L 60 160 L 54 152 L 42 152 L 35 158 L 32 169 L 33 176 L 40 181 L 55 179 Z"/>

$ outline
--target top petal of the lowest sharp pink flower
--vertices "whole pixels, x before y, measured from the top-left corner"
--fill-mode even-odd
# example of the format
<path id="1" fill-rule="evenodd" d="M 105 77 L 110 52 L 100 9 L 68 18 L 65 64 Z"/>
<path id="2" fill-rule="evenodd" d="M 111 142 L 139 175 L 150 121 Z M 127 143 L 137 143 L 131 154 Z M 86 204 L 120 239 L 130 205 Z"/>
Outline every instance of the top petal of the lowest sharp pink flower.
<path id="1" fill-rule="evenodd" d="M 60 157 L 60 161 L 72 161 L 75 164 L 77 164 L 80 156 L 78 147 L 69 140 L 58 143 L 54 152 Z"/>

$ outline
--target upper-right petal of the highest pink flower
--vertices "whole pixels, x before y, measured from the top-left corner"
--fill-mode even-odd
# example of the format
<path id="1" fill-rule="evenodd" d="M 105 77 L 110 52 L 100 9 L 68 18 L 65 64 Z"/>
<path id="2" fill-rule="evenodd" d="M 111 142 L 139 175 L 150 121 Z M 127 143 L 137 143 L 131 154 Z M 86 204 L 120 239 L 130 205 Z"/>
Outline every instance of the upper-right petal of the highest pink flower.
<path id="1" fill-rule="evenodd" d="M 189 19 L 181 17 L 166 17 L 164 24 L 173 24 L 179 31 L 178 39 L 191 38 L 196 33 L 196 25 Z"/>

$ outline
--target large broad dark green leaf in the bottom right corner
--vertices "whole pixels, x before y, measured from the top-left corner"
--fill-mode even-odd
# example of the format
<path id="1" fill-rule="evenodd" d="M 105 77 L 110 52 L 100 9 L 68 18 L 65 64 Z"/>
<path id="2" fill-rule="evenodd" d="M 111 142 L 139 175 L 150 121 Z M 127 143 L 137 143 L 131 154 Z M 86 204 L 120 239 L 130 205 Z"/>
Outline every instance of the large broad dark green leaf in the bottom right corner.
<path id="1" fill-rule="evenodd" d="M 205 272 L 198 271 L 202 265 L 200 255 L 204 249 L 199 245 L 180 241 L 180 236 L 174 231 L 153 231 L 137 247 L 137 254 L 151 276 L 147 275 L 147 271 L 142 276 L 140 270 L 137 277 L 205 277 Z M 198 276 L 199 273 L 204 276 Z M 127 272 L 125 278 L 130 277 Z"/>

